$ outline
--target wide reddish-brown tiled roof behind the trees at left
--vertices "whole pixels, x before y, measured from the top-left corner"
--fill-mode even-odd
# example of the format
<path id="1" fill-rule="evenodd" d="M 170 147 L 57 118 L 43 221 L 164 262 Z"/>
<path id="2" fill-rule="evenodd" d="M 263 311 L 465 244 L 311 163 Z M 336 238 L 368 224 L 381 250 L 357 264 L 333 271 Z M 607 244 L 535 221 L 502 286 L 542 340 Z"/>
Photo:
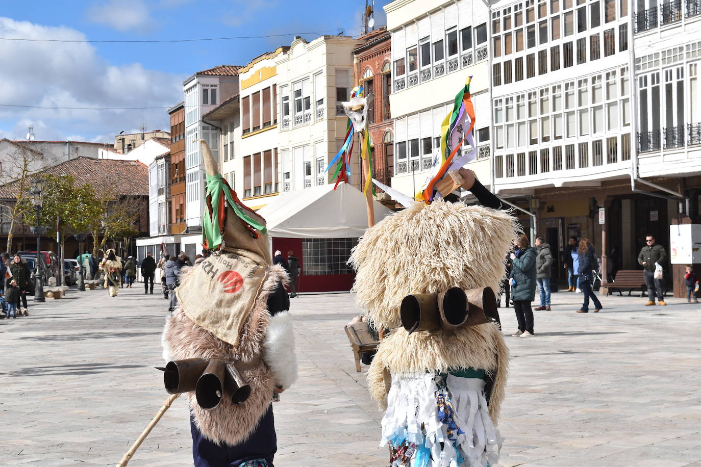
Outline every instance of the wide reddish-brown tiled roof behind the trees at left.
<path id="1" fill-rule="evenodd" d="M 149 168 L 134 160 L 75 158 L 43 169 L 39 174 L 72 175 L 76 184 L 112 186 L 118 196 L 148 196 Z M 14 182 L 18 183 L 18 182 Z M 0 186 L 0 199 L 13 200 L 13 183 Z"/>

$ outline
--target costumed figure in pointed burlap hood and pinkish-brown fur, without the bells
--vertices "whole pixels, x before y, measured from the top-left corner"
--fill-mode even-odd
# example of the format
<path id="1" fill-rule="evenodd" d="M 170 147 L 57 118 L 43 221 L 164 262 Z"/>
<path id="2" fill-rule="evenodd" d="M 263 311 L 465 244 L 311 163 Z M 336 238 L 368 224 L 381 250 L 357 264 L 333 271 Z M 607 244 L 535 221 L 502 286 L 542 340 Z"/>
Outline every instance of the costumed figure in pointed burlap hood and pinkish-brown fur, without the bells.
<path id="1" fill-rule="evenodd" d="M 297 378 L 287 273 L 271 265 L 265 221 L 238 200 L 201 142 L 207 170 L 203 246 L 212 251 L 181 271 L 179 305 L 166 319 L 166 361 L 203 358 L 236 368 L 250 396 L 216 407 L 188 393 L 196 466 L 273 466 L 271 402 Z"/>

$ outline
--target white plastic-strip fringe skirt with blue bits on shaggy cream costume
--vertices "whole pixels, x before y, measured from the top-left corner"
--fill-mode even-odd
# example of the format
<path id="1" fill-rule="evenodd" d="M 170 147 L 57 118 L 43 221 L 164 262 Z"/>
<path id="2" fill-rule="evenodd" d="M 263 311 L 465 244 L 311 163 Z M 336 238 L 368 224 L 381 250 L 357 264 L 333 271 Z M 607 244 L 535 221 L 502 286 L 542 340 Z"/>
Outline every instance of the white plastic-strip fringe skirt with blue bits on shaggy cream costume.
<path id="1" fill-rule="evenodd" d="M 390 467 L 498 467 L 501 444 L 484 380 L 392 376 L 380 443 L 390 447 Z"/>

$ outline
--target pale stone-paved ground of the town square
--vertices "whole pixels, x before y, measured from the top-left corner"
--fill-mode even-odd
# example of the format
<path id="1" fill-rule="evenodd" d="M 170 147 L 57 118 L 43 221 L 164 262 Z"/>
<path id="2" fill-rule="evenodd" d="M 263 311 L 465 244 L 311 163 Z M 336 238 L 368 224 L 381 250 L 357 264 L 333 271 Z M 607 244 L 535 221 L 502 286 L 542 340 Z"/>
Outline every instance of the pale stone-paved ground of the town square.
<path id="1" fill-rule="evenodd" d="M 500 423 L 510 466 L 701 466 L 699 305 L 557 293 L 536 337 L 507 337 L 512 359 Z M 69 293 L 0 321 L 0 465 L 114 466 L 167 394 L 163 295 Z M 512 309 L 501 309 L 505 333 Z M 381 413 L 343 325 L 353 296 L 292 300 L 300 379 L 275 404 L 277 466 L 385 466 Z M 175 401 L 130 466 L 191 465 L 188 409 Z"/>

